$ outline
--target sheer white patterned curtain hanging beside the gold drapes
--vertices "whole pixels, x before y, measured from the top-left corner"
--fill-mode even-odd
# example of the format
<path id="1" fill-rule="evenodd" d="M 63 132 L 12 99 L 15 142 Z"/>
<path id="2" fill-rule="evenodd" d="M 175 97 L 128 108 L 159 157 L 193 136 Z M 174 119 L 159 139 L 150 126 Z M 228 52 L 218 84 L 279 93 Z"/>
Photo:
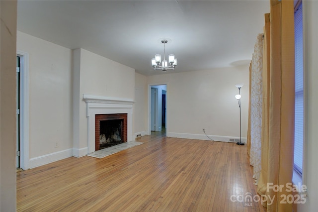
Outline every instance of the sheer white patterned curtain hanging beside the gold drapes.
<path id="1" fill-rule="evenodd" d="M 250 165 L 255 185 L 261 171 L 263 34 L 257 35 L 250 72 Z"/>

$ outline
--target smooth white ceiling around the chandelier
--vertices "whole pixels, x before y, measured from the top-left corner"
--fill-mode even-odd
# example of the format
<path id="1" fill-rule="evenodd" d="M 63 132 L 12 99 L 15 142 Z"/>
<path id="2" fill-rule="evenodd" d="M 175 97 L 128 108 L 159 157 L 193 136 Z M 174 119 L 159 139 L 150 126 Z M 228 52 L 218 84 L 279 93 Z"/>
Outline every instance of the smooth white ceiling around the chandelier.
<path id="1" fill-rule="evenodd" d="M 19 0 L 17 29 L 150 76 L 248 64 L 269 0 Z M 174 54 L 174 71 L 151 59 Z"/>

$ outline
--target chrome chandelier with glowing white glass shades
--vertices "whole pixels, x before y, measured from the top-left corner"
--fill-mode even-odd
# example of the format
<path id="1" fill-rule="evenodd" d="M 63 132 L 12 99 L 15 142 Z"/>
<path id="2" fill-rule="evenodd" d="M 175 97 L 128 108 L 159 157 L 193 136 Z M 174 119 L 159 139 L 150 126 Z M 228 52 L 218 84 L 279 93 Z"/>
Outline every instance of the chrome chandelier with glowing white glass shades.
<path id="1" fill-rule="evenodd" d="M 168 42 L 167 40 L 161 40 L 161 43 L 163 43 L 163 60 L 161 61 L 161 55 L 159 54 L 156 54 L 155 58 L 151 59 L 151 64 L 154 67 L 154 70 L 159 70 L 159 69 L 161 69 L 162 71 L 166 71 L 167 69 L 174 70 L 174 67 L 177 66 L 177 59 L 174 58 L 174 54 L 169 54 L 168 61 L 165 60 L 165 44 L 167 42 Z"/>

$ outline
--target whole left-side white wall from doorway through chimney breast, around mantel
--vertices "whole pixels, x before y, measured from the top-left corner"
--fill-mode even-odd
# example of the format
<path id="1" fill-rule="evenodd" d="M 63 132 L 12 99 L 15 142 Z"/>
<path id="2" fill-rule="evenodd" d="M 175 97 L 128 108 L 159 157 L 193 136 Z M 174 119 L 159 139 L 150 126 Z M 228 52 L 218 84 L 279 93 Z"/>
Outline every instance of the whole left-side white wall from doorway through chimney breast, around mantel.
<path id="1" fill-rule="evenodd" d="M 87 154 L 83 94 L 134 100 L 130 67 L 23 32 L 17 49 L 29 54 L 29 168 Z"/>

